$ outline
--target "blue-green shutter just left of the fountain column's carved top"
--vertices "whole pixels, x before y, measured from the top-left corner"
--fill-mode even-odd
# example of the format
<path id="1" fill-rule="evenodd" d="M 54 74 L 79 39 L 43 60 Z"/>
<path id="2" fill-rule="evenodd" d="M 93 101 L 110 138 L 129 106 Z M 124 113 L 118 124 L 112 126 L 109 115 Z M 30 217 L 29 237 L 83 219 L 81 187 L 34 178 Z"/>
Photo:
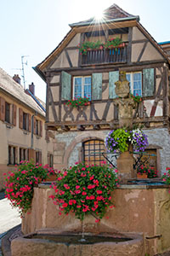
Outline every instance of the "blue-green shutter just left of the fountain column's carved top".
<path id="1" fill-rule="evenodd" d="M 118 71 L 112 71 L 109 72 L 109 98 L 115 99 L 117 98 L 116 92 L 115 92 L 115 82 L 119 80 L 119 72 Z"/>

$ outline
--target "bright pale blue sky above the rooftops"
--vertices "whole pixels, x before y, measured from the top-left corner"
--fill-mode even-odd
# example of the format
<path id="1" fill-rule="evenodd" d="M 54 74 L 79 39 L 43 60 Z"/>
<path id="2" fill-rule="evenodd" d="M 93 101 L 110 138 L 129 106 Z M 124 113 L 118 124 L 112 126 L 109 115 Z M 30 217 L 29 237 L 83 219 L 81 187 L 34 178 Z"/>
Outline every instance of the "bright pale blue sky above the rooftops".
<path id="1" fill-rule="evenodd" d="M 24 61 L 26 88 L 34 82 L 36 95 L 45 101 L 46 85 L 31 68 L 37 66 L 65 37 L 68 24 L 86 20 L 116 3 L 132 15 L 157 42 L 170 41 L 169 0 L 1 0 L 0 67 L 21 76 Z M 23 84 L 23 81 L 21 81 Z"/>

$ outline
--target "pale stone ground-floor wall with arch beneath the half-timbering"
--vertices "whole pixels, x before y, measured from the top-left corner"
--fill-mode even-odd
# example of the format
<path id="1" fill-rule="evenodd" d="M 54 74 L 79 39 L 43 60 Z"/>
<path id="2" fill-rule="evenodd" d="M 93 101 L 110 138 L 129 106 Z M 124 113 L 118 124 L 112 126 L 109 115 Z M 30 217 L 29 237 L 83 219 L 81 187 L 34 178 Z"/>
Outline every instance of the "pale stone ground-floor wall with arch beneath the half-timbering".
<path id="1" fill-rule="evenodd" d="M 109 130 L 105 131 L 75 131 L 56 135 L 54 143 L 54 167 L 62 169 L 82 160 L 82 142 L 88 139 L 105 140 Z M 167 128 L 144 130 L 148 136 L 149 147 L 157 150 L 157 167 L 160 175 L 170 166 L 170 136 Z"/>

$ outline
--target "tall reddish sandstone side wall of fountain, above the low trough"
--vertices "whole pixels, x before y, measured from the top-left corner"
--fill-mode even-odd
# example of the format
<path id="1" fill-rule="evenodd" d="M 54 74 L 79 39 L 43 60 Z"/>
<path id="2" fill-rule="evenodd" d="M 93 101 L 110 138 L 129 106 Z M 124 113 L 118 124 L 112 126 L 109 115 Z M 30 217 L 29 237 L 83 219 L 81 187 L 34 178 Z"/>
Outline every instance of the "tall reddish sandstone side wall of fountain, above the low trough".
<path id="1" fill-rule="evenodd" d="M 170 244 L 170 194 L 162 186 L 121 185 L 113 194 L 115 208 L 109 208 L 99 224 L 95 218 L 85 218 L 85 232 L 99 234 L 135 232 L 144 234 L 145 253 L 155 255 L 169 249 Z M 31 232 L 79 232 L 82 230 L 80 220 L 73 214 L 59 215 L 49 195 L 54 190 L 48 185 L 40 184 L 34 189 L 31 214 L 22 220 L 24 234 Z"/>

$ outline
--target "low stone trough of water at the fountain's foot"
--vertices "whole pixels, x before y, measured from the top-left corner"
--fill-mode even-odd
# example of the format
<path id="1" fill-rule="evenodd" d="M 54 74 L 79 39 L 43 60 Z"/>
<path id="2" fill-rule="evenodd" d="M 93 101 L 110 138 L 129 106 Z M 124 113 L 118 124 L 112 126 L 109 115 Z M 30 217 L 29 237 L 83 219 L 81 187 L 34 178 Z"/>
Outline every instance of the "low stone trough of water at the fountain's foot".
<path id="1" fill-rule="evenodd" d="M 30 234 L 12 241 L 13 256 L 118 256 L 144 255 L 143 236 L 111 234 L 92 236 L 85 235 L 87 241 L 80 242 L 80 234 Z M 129 254 L 130 253 L 130 254 Z"/>

